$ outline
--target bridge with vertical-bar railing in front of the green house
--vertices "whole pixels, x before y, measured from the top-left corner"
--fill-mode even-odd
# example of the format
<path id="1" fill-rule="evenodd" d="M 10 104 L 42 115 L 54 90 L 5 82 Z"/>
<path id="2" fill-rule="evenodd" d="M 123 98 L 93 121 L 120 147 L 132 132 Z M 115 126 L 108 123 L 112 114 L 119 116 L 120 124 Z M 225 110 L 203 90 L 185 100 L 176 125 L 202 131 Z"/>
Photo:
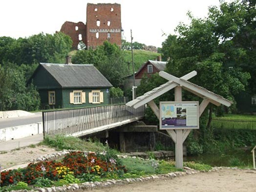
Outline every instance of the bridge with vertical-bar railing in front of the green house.
<path id="1" fill-rule="evenodd" d="M 84 136 L 117 128 L 144 117 L 145 107 L 126 105 L 65 109 L 43 112 L 43 137 Z"/>

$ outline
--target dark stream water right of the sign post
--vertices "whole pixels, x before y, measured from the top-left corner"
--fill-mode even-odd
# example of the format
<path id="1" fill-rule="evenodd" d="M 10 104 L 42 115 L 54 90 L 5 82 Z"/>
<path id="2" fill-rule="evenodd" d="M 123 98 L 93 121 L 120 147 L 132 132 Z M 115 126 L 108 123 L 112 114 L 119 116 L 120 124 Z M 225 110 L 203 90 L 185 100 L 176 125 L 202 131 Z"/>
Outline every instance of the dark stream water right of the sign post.
<path id="1" fill-rule="evenodd" d="M 184 161 L 194 161 L 211 166 L 253 166 L 253 155 L 249 150 L 229 151 L 222 154 L 203 154 L 200 156 L 184 156 Z"/>

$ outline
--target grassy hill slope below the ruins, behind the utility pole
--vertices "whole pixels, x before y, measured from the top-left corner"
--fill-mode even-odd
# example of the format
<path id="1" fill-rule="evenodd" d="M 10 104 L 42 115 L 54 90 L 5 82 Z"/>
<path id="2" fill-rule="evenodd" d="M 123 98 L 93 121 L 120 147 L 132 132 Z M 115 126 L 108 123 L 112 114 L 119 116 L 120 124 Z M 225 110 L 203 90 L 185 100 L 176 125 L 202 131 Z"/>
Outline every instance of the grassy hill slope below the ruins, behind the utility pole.
<path id="1" fill-rule="evenodd" d="M 127 63 L 130 62 L 130 71 L 132 72 L 131 51 L 125 50 L 124 53 L 125 53 L 125 61 Z M 142 64 L 144 64 L 148 60 L 155 60 L 159 55 L 160 55 L 159 53 L 153 53 L 145 50 L 138 50 L 138 49 L 133 50 L 133 60 L 134 60 L 135 71 L 137 71 Z"/>

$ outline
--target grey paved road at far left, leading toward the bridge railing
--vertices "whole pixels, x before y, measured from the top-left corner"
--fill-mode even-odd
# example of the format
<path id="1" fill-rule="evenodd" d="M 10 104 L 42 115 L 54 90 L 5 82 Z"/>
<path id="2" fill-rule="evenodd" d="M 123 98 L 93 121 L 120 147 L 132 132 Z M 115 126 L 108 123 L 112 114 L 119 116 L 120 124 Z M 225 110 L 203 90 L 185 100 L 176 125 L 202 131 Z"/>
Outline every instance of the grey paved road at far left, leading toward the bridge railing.
<path id="1" fill-rule="evenodd" d="M 42 112 L 35 115 L 0 119 L 0 129 L 42 122 Z"/>

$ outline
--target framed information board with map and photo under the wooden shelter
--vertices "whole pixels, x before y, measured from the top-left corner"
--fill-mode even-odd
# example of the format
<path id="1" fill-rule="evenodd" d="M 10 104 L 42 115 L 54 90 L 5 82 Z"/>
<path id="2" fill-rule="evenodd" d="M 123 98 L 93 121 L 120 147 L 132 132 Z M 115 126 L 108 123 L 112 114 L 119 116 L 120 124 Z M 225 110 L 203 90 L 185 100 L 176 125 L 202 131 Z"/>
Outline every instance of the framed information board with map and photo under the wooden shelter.
<path id="1" fill-rule="evenodd" d="M 160 102 L 160 129 L 199 128 L 199 102 Z"/>

